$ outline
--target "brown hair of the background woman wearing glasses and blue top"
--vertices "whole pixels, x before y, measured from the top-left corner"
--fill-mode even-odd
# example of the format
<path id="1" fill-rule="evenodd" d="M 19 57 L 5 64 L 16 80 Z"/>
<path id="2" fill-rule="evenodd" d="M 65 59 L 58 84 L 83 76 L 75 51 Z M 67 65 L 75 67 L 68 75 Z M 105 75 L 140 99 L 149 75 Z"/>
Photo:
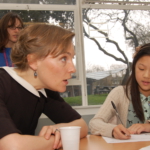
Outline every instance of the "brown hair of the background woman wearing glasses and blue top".
<path id="1" fill-rule="evenodd" d="M 15 26 L 16 19 L 18 19 L 21 23 L 21 26 L 24 27 L 22 19 L 14 12 L 9 12 L 0 19 L 0 52 L 3 51 L 9 40 L 9 35 L 7 32 L 8 23 L 10 22 L 11 24 L 9 26 L 13 27 Z"/>

